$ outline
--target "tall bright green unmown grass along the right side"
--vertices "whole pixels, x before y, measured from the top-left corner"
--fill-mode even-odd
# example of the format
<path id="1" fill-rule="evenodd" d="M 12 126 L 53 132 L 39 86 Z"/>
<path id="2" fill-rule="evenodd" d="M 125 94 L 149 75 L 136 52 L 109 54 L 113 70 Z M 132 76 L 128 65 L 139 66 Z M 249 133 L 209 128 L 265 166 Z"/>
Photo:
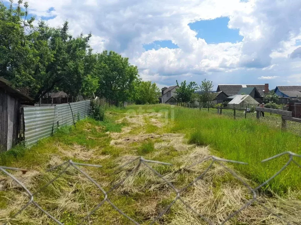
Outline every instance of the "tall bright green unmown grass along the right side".
<path id="1" fill-rule="evenodd" d="M 128 109 L 138 109 L 131 106 Z M 168 105 L 147 105 L 142 110 L 171 110 Z M 140 109 L 141 110 L 141 109 Z M 249 165 L 235 165 L 235 168 L 248 178 L 257 182 L 265 182 L 273 176 L 288 160 L 286 155 L 269 162 L 263 159 L 285 151 L 301 154 L 301 138 L 290 132 L 281 132 L 256 119 L 232 119 L 205 110 L 175 107 L 171 132 L 185 133 L 190 143 L 209 145 L 214 154 L 226 159 L 246 162 Z M 214 111 L 216 111 L 214 109 Z M 169 118 L 171 111 L 169 113 Z M 268 116 L 266 116 L 268 118 Z M 300 162 L 300 158 L 294 158 Z M 301 170 L 290 164 L 280 175 L 268 183 L 264 189 L 270 188 L 277 193 L 287 192 L 290 188 L 301 190 Z"/>

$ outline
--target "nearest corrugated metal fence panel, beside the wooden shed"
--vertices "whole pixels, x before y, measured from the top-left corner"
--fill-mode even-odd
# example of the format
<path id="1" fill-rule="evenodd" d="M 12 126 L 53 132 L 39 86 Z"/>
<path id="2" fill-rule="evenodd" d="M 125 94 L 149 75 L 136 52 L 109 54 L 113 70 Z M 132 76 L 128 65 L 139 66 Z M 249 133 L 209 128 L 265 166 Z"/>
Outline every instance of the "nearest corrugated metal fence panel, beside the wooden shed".
<path id="1" fill-rule="evenodd" d="M 25 146 L 52 134 L 54 107 L 24 107 Z"/>

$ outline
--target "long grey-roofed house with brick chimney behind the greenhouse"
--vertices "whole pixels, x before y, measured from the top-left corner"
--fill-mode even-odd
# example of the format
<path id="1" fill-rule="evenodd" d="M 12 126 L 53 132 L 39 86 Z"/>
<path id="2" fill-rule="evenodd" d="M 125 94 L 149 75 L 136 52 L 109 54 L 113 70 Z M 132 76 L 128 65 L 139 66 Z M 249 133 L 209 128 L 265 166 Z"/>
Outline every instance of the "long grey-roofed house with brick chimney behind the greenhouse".
<path id="1" fill-rule="evenodd" d="M 228 96 L 237 95 L 240 92 L 241 88 L 255 87 L 258 91 L 260 97 L 262 98 L 265 94 L 268 94 L 270 91 L 268 89 L 268 84 L 219 84 L 217 86 L 216 92 L 224 91 Z M 255 95 L 254 95 L 255 96 Z"/>

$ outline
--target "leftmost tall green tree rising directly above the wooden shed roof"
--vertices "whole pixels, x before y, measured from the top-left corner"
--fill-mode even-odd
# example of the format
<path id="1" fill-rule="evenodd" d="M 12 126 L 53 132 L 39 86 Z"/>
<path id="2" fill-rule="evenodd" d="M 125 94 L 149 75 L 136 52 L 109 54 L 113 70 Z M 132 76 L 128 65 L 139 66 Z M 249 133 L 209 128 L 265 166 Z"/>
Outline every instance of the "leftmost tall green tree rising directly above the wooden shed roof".
<path id="1" fill-rule="evenodd" d="M 32 74 L 39 58 L 37 51 L 32 50 L 36 39 L 34 18 L 27 19 L 28 4 L 24 3 L 25 11 L 21 10 L 21 4 L 22 1 L 18 1 L 14 8 L 11 1 L 7 8 L 0 2 L 0 74 L 12 81 L 15 87 L 30 89 L 35 88 L 31 85 L 34 82 Z"/>

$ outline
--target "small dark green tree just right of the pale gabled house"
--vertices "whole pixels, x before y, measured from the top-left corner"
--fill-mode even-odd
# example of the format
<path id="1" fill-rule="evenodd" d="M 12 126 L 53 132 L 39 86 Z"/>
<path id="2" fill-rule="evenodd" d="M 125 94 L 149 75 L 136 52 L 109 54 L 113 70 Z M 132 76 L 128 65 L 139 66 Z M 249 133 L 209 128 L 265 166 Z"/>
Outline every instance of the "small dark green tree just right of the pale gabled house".
<path id="1" fill-rule="evenodd" d="M 186 85 L 186 80 L 181 82 L 181 85 L 178 84 L 178 81 L 176 80 L 177 85 L 179 88 L 175 89 L 175 99 L 178 102 L 184 102 L 188 103 L 191 101 L 191 96 L 194 93 L 195 90 L 197 90 L 197 84 L 194 81 L 191 81 L 188 85 Z"/>

